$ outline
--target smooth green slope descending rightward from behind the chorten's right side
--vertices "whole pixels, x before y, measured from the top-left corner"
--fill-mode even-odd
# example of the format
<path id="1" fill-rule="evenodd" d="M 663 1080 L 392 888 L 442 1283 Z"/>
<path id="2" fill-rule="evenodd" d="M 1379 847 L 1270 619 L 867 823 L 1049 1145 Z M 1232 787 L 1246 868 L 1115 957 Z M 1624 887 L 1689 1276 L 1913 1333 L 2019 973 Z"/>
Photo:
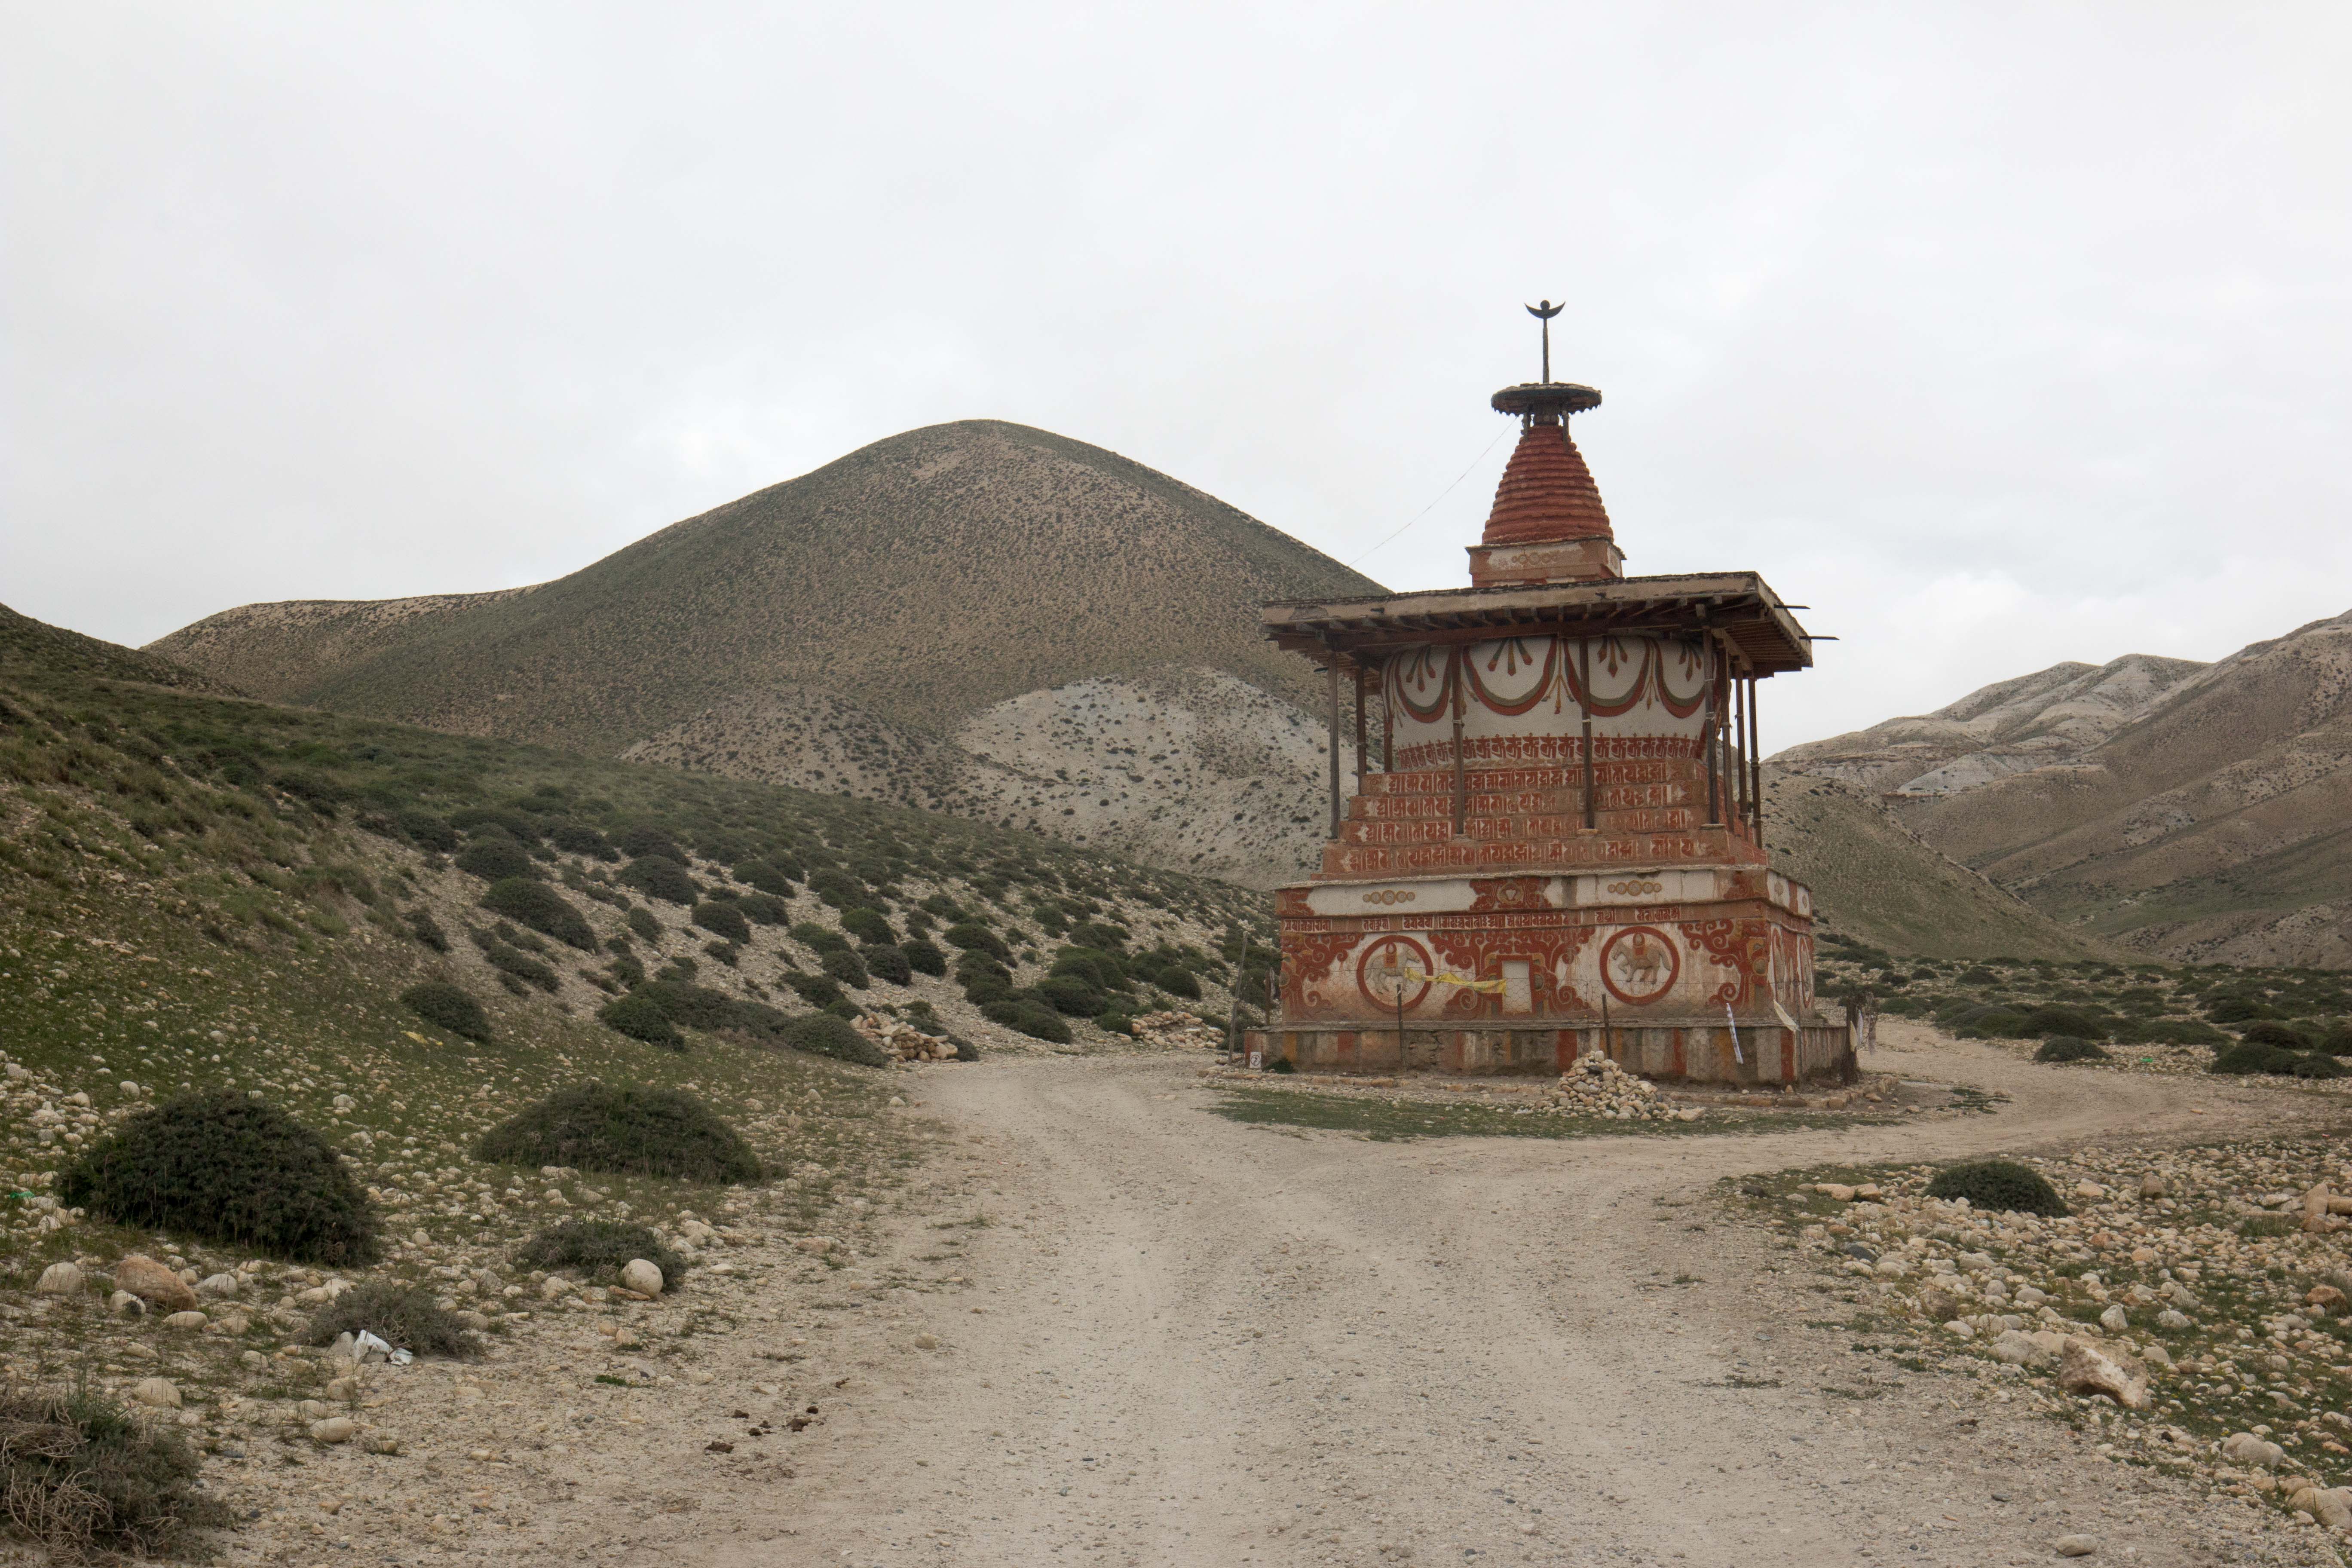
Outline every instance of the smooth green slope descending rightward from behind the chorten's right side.
<path id="1" fill-rule="evenodd" d="M 1825 931 L 1931 959 L 2105 959 L 2070 931 L 1919 842 L 1877 795 L 1835 778 L 1764 771 L 1773 865 L 1813 889 Z"/>

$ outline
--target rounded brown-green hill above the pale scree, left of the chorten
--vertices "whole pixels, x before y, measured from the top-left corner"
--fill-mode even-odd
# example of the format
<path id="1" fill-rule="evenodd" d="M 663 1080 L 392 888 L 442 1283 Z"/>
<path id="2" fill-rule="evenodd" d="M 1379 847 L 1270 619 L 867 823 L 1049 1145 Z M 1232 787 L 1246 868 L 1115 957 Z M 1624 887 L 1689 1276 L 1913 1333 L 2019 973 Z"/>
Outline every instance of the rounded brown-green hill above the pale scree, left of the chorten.
<path id="1" fill-rule="evenodd" d="M 713 708 L 826 691 L 946 733 L 1082 677 L 1216 668 L 1310 696 L 1261 599 L 1378 592 L 1117 454 L 997 421 L 894 435 L 567 578 L 254 604 L 153 651 L 275 701 L 612 755 Z"/>

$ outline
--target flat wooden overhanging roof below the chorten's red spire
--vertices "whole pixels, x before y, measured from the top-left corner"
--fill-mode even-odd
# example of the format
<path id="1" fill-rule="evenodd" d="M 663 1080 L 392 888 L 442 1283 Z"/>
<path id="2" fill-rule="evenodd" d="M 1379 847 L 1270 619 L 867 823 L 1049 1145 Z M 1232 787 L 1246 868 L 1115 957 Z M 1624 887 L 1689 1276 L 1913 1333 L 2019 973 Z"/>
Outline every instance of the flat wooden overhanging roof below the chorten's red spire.
<path id="1" fill-rule="evenodd" d="M 1341 668 L 1383 649 L 1491 637 L 1602 637 L 1616 632 L 1719 632 L 1752 675 L 1813 663 L 1806 635 L 1755 571 L 1693 571 L 1597 583 L 1437 588 L 1369 599 L 1275 599 L 1265 635 Z"/>

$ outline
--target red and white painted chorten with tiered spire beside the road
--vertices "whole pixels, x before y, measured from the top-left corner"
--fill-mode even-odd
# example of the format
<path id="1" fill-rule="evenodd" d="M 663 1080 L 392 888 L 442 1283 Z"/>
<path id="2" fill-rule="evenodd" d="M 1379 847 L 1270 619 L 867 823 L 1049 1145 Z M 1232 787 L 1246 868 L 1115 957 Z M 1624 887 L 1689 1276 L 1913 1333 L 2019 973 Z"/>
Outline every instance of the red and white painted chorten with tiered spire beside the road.
<path id="1" fill-rule="evenodd" d="M 1251 1039 L 1322 1072 L 1851 1074 L 1813 1004 L 1813 896 L 1764 853 L 1755 693 L 1813 639 L 1755 571 L 1625 576 L 1569 418 L 1519 421 L 1470 588 L 1268 604 L 1327 675 L 1331 839 L 1275 893 L 1282 987 Z M 1352 691 L 1357 788 L 1341 790 Z"/>

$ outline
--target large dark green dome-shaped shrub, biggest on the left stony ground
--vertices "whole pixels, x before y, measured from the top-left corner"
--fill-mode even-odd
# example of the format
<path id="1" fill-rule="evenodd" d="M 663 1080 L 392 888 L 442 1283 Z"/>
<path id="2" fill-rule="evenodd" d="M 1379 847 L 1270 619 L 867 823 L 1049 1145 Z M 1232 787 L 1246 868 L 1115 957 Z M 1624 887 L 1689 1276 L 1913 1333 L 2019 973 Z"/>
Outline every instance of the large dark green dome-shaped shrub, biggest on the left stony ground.
<path id="1" fill-rule="evenodd" d="M 376 1258 L 376 1215 L 327 1140 L 233 1088 L 139 1112 L 56 1178 L 115 1225 L 233 1241 L 301 1262 Z"/>

